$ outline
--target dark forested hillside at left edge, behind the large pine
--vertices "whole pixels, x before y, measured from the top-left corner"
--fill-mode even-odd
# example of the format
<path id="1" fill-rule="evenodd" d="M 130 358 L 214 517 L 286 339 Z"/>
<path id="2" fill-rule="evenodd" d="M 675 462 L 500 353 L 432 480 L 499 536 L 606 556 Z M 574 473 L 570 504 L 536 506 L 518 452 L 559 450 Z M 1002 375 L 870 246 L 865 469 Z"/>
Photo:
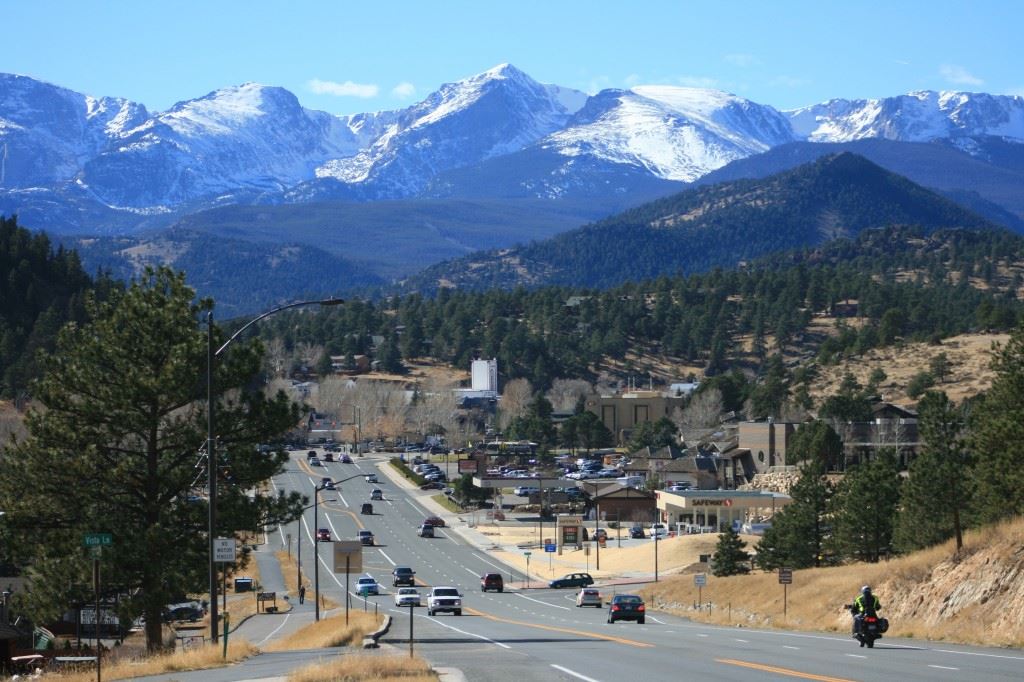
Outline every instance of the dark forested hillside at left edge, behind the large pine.
<path id="1" fill-rule="evenodd" d="M 0 216 L 0 396 L 27 388 L 36 353 L 53 347 L 67 322 L 82 319 L 83 297 L 94 287 L 78 254 L 54 249 L 46 235 Z M 100 278 L 102 292 L 112 283 Z"/>

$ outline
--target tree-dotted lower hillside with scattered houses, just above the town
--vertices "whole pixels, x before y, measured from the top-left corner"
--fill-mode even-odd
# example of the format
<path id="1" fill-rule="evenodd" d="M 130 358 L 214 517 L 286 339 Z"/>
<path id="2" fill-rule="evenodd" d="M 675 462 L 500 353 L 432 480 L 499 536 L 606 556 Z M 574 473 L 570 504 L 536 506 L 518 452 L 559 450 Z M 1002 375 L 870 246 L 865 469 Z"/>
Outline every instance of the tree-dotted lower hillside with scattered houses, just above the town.
<path id="1" fill-rule="evenodd" d="M 776 353 L 799 350 L 830 363 L 900 339 L 1009 330 L 1022 312 L 1022 262 L 1024 239 L 1002 230 L 894 227 L 731 271 L 604 291 L 441 290 L 433 299 L 415 294 L 278 315 L 261 330 L 286 346 L 322 345 L 330 354 L 371 351 L 370 335 L 381 335 L 378 352 L 404 358 L 468 367 L 475 356 L 497 357 L 504 378 L 528 378 L 536 387 L 594 378 L 628 352 L 715 375 L 759 370 Z M 815 341 L 808 326 L 822 313 L 851 324 L 840 322 Z"/>

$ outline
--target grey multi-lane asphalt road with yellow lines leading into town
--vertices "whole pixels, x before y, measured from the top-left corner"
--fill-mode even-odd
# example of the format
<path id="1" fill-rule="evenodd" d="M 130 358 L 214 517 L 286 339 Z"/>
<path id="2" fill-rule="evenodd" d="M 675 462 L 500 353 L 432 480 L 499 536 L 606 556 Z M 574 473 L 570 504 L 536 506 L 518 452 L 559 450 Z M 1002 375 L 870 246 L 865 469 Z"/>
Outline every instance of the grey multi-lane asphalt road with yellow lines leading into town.
<path id="1" fill-rule="evenodd" d="M 522 576 L 510 573 L 477 545 L 485 539 L 468 530 L 465 538 L 455 529 L 440 529 L 435 539 L 423 539 L 416 529 L 426 516 L 434 515 L 423 499 L 434 494 L 410 489 L 387 475 L 385 459 L 364 458 L 354 464 L 326 463 L 310 468 L 305 453 L 295 453 L 288 472 L 279 476 L 279 489 L 298 489 L 311 497 L 322 476 L 341 479 L 357 473 L 377 472 L 379 484 L 361 478 L 342 483 L 340 489 L 325 492 L 319 525 L 331 529 L 334 540 L 351 540 L 360 528 L 373 530 L 378 545 L 364 548 L 364 573 L 377 579 L 382 595 L 370 597 L 374 604 L 394 616 L 392 628 L 381 643 L 401 650 L 409 648 L 409 609 L 394 607 L 390 572 L 395 565 L 412 566 L 424 595 L 427 586 L 454 585 L 464 594 L 463 615 L 447 613 L 428 616 L 425 608 L 415 609 L 414 647 L 435 667 L 461 671 L 464 679 L 496 682 L 550 680 L 1020 680 L 1024 651 L 946 645 L 934 642 L 884 639 L 873 649 L 834 633 L 792 633 L 749 628 L 725 628 L 695 624 L 685 619 L 650 612 L 644 625 L 606 623 L 604 608 L 577 608 L 574 590 L 521 589 Z M 378 466 L 383 465 L 383 468 Z M 360 515 L 359 505 L 370 499 L 370 491 L 381 487 L 385 500 L 374 502 L 375 514 Z M 282 529 L 270 539 L 271 548 L 284 545 L 287 534 L 298 532 L 297 524 Z M 312 538 L 315 532 L 310 510 L 302 520 L 303 571 L 312 576 Z M 293 552 L 295 551 L 293 544 Z M 326 547 L 321 556 L 321 591 L 343 603 L 345 576 L 332 570 Z M 479 576 L 502 572 L 506 592 L 481 593 Z M 354 585 L 356 576 L 351 577 Z M 540 586 L 540 581 L 534 583 Z M 600 586 L 599 586 L 600 587 Z M 602 588 L 605 596 L 629 588 Z M 313 598 L 284 616 L 265 619 L 257 631 L 246 636 L 256 642 L 285 634 L 308 622 Z M 352 596 L 352 608 L 364 600 Z M 303 621 L 303 614 L 305 619 Z M 261 616 L 263 617 L 263 616 Z M 291 623 L 291 625 L 289 625 Z M 253 627 L 256 627 L 255 625 Z M 205 682 L 258 679 L 282 674 L 291 662 L 316 657 L 317 652 L 275 655 L 262 663 L 258 656 L 216 674 L 203 674 Z M 254 668 L 250 669 L 250 666 Z M 232 675 L 231 677 L 221 677 Z M 167 678 L 170 679 L 170 678 Z M 188 675 L 173 679 L 185 682 Z M 199 678 L 196 678 L 199 679 Z"/>

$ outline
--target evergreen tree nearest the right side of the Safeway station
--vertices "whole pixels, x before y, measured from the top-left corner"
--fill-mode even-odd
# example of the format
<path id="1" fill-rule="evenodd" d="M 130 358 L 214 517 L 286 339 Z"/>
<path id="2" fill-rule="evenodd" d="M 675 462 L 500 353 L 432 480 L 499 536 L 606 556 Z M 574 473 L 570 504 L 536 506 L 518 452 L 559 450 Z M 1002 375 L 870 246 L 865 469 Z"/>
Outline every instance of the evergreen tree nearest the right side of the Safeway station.
<path id="1" fill-rule="evenodd" d="M 820 462 L 810 462 L 790 491 L 793 502 L 775 513 L 757 545 L 757 563 L 764 570 L 780 566 L 808 568 L 824 561 L 828 500 L 833 486 Z"/>

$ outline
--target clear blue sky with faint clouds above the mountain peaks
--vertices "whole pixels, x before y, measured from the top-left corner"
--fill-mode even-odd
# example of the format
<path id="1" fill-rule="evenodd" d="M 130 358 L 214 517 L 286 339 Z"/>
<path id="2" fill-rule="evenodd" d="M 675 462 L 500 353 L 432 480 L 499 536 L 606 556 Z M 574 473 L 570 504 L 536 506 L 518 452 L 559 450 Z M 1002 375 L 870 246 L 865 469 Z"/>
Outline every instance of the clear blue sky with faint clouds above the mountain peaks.
<path id="1" fill-rule="evenodd" d="M 502 62 L 590 93 L 694 85 L 778 109 L 1024 95 L 1017 0 L 24 0 L 0 19 L 0 71 L 153 111 L 247 81 L 335 114 L 397 109 Z"/>

